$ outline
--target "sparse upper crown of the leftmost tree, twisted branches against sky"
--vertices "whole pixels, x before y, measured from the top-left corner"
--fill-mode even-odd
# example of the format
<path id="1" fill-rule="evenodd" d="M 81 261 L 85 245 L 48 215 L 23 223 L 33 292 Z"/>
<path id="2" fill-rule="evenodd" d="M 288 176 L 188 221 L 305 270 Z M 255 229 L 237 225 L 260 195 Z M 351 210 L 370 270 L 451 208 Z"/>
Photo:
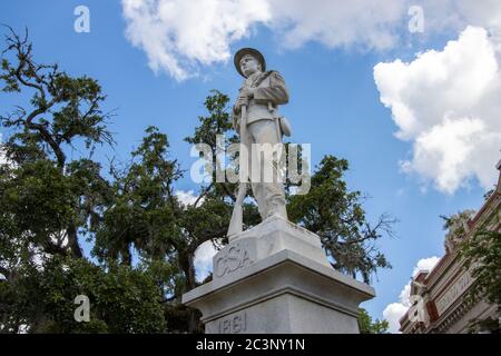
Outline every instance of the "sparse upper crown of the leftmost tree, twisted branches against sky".
<path id="1" fill-rule="evenodd" d="M 57 65 L 37 63 L 28 34 L 21 39 L 11 32 L 3 52 L 11 55 L 12 60 L 2 60 L 1 90 L 24 89 L 32 96 L 29 108 L 17 107 L 0 117 L 4 128 L 17 129 L 4 145 L 7 157 L 20 160 L 51 156 L 62 169 L 67 159 L 65 145 L 72 147 L 81 139 L 86 148 L 94 149 L 96 144 L 112 142 L 106 128 L 109 115 L 100 108 L 106 96 L 99 83 L 85 76 L 70 77 Z"/>

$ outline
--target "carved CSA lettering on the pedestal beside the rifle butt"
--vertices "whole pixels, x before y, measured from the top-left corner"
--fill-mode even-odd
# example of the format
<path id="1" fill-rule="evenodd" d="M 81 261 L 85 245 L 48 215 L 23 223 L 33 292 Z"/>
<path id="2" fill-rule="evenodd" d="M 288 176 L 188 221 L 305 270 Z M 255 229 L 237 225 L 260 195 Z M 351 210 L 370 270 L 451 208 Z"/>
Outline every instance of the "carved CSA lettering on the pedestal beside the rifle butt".
<path id="1" fill-rule="evenodd" d="M 229 245 L 214 258 L 214 275 L 223 277 L 254 263 L 254 254 L 248 244 Z"/>

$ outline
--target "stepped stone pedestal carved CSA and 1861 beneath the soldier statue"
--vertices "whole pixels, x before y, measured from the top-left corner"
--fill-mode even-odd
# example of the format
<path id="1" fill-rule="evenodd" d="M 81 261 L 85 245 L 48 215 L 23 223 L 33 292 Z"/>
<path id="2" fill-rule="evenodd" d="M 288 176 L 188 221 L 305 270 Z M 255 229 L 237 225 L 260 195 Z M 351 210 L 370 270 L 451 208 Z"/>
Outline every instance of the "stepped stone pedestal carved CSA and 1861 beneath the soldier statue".
<path id="1" fill-rule="evenodd" d="M 320 237 L 279 217 L 237 235 L 214 256 L 213 280 L 183 296 L 208 334 L 358 333 L 374 289 L 334 270 Z"/>

